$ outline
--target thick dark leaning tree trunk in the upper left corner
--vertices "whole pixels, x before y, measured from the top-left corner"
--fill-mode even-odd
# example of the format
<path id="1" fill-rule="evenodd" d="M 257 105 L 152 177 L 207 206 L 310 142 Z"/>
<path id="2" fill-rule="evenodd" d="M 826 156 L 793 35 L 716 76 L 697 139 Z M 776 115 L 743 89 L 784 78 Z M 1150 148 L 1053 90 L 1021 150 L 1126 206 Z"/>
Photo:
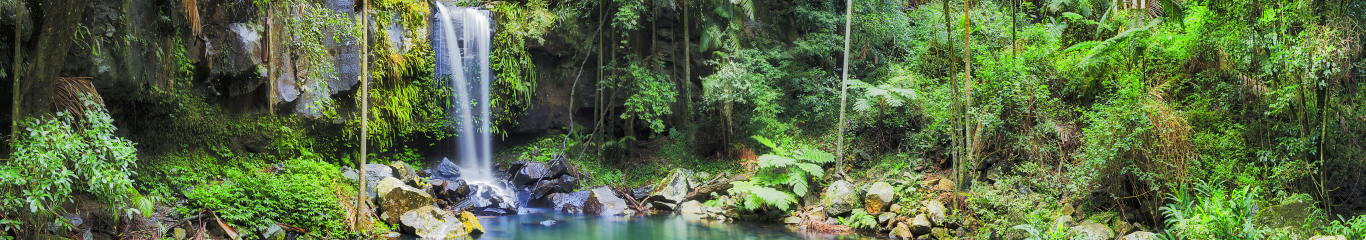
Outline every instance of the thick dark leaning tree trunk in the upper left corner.
<path id="1" fill-rule="evenodd" d="M 23 106 L 18 119 L 52 115 L 52 89 L 67 61 L 67 50 L 75 41 L 76 25 L 85 16 L 83 0 L 56 0 L 46 5 L 46 19 L 38 33 L 38 48 L 31 53 L 27 82 L 20 82 L 19 104 Z"/>

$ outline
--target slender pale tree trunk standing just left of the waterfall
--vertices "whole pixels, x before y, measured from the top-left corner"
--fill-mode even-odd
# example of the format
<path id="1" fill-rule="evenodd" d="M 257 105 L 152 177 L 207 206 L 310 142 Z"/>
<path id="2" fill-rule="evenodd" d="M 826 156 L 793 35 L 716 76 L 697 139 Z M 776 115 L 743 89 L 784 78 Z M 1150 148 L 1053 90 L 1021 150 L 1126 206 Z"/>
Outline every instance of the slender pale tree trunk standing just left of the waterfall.
<path id="1" fill-rule="evenodd" d="M 355 222 L 352 222 L 351 230 L 359 230 L 361 213 L 363 213 L 361 209 L 365 207 L 365 203 L 362 200 L 365 199 L 365 161 L 366 161 L 366 147 L 369 143 L 367 142 L 369 139 L 366 136 L 369 135 L 369 121 L 370 121 L 370 78 L 369 78 L 370 70 L 369 64 L 366 63 L 366 59 L 369 59 L 367 53 L 370 50 L 369 49 L 370 41 L 367 40 L 366 34 L 366 31 L 369 31 L 367 29 L 369 19 L 366 16 L 370 12 L 370 4 L 369 0 L 362 0 L 361 4 L 363 5 L 361 8 L 361 29 L 362 29 L 361 30 L 361 162 L 355 168 L 358 173 L 357 179 L 359 180 L 357 183 L 359 184 L 355 187 L 357 188 Z M 443 19 L 443 20 L 449 20 L 449 19 Z M 455 41 L 455 40 L 447 40 L 447 41 Z"/>

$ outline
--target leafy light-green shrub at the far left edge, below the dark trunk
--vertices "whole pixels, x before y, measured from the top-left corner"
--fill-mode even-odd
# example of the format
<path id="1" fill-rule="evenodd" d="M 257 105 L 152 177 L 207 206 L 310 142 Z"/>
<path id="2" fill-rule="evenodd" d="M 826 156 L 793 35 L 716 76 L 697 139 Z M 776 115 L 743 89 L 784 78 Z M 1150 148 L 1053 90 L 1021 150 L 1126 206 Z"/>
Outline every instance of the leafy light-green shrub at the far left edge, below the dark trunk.
<path id="1" fill-rule="evenodd" d="M 90 109 L 85 117 L 57 112 L 55 119 L 23 123 L 14 158 L 0 165 L 0 214 L 25 211 L 30 222 L 45 222 L 78 191 L 119 211 L 145 205 L 128 177 L 137 166 L 134 143 L 113 135 L 116 127 L 102 105 L 89 97 L 82 101 Z"/>

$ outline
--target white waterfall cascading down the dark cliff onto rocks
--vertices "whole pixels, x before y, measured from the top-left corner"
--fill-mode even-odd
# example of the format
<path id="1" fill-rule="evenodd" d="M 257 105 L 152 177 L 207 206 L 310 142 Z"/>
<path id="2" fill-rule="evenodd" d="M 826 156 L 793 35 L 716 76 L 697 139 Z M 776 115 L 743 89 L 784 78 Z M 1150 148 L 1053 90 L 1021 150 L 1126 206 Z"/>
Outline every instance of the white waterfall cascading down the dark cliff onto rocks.
<path id="1" fill-rule="evenodd" d="M 455 95 L 451 102 L 456 120 L 455 150 L 460 162 L 459 179 L 467 181 L 475 196 L 511 203 L 516 209 L 512 191 L 493 175 L 493 134 L 489 112 L 489 35 L 490 19 L 475 8 L 449 10 L 434 1 L 440 35 L 433 34 L 438 78 L 451 79 Z M 459 30 L 456 29 L 459 27 Z M 500 207 L 507 209 L 507 207 Z"/>

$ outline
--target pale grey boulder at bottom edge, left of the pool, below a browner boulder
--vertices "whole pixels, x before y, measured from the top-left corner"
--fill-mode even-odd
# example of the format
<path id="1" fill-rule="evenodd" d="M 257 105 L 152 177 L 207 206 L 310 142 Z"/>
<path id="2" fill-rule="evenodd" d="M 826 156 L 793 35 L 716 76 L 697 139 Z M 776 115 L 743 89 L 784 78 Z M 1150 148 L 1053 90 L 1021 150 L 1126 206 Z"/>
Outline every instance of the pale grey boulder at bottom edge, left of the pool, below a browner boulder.
<path id="1" fill-rule="evenodd" d="M 433 206 L 403 213 L 399 221 L 399 229 L 422 239 L 456 239 L 470 233 L 454 214 Z"/>

